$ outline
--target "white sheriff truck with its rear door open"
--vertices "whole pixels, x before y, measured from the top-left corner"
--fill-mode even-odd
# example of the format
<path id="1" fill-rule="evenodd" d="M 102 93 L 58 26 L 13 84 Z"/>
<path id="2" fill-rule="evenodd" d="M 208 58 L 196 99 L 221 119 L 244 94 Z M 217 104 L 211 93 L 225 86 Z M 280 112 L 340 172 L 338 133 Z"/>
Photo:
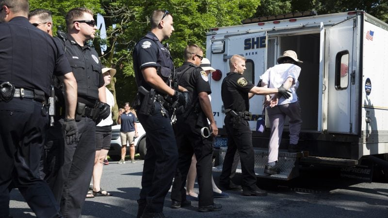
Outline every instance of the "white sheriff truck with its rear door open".
<path id="1" fill-rule="evenodd" d="M 264 133 L 256 131 L 263 96 L 255 95 L 250 99 L 249 124 L 257 176 L 289 180 L 298 175 L 300 163 L 352 167 L 365 156 L 387 160 L 388 24 L 363 11 L 290 13 L 242 23 L 207 32 L 207 58 L 217 69 L 210 79 L 211 106 L 220 129 L 214 142 L 220 147 L 214 171 L 222 170 L 226 152 L 221 83 L 229 72 L 230 57 L 244 56 L 244 77 L 257 84 L 286 50 L 294 50 L 303 61 L 297 93 L 303 119 L 299 144 L 304 152 L 286 152 L 286 123 L 279 152 L 281 172 L 264 174 L 270 130 L 267 122 Z"/>

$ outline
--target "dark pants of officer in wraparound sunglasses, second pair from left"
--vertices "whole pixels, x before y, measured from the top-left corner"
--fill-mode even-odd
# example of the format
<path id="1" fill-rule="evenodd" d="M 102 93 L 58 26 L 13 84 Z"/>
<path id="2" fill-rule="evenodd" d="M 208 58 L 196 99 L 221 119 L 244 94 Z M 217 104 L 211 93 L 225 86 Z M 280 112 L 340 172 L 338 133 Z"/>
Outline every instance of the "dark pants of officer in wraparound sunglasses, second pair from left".
<path id="1" fill-rule="evenodd" d="M 63 123 L 63 120 L 60 120 Z M 77 122 L 80 141 L 64 143 L 60 153 L 64 161 L 59 169 L 53 192 L 61 205 L 61 213 L 66 218 L 81 216 L 82 206 L 92 178 L 96 155 L 96 122 L 82 117 Z"/>

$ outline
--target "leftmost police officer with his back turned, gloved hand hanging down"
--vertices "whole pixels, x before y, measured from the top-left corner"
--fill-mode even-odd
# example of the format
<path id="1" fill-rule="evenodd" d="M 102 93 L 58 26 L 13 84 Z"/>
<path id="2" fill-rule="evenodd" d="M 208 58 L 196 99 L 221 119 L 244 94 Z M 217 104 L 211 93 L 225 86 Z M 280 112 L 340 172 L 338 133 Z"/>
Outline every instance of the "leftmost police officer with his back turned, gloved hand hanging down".
<path id="1" fill-rule="evenodd" d="M 62 48 L 28 22 L 28 11 L 28 0 L 0 0 L 0 216 L 9 216 L 8 186 L 14 180 L 37 217 L 60 217 L 58 203 L 39 178 L 39 160 L 53 72 L 64 83 L 65 133 L 71 140 L 78 135 L 77 83 Z"/>

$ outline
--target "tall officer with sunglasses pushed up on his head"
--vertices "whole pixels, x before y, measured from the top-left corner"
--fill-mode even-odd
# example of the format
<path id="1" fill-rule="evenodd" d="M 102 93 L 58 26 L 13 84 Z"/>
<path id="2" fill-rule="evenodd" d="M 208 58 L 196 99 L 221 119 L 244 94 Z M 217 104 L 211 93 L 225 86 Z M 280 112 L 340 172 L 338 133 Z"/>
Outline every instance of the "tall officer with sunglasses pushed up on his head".
<path id="1" fill-rule="evenodd" d="M 164 198 L 177 168 L 178 149 L 169 118 L 172 114 L 162 97 L 170 96 L 170 102 L 181 105 L 186 102 L 185 94 L 171 88 L 173 60 L 170 51 L 161 43 L 170 38 L 173 31 L 173 16 L 167 10 L 155 10 L 151 15 L 151 31 L 137 42 L 133 50 L 140 106 L 132 104 L 132 108 L 137 109 L 139 121 L 147 132 L 147 154 L 137 217 L 164 217 Z"/>

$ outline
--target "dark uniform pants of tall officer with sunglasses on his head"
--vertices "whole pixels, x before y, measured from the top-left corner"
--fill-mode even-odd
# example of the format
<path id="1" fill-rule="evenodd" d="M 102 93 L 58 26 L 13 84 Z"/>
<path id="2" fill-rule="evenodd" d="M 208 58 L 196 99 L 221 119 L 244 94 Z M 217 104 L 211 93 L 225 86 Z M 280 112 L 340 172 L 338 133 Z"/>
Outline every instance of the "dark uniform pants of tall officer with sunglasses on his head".
<path id="1" fill-rule="evenodd" d="M 163 211 L 164 198 L 171 187 L 177 169 L 178 149 L 170 118 L 162 116 L 161 105 L 154 103 L 151 116 L 138 114 L 146 130 L 147 153 L 144 157 L 142 190 L 139 205 L 145 213 Z M 167 114 L 168 115 L 168 114 Z"/>

